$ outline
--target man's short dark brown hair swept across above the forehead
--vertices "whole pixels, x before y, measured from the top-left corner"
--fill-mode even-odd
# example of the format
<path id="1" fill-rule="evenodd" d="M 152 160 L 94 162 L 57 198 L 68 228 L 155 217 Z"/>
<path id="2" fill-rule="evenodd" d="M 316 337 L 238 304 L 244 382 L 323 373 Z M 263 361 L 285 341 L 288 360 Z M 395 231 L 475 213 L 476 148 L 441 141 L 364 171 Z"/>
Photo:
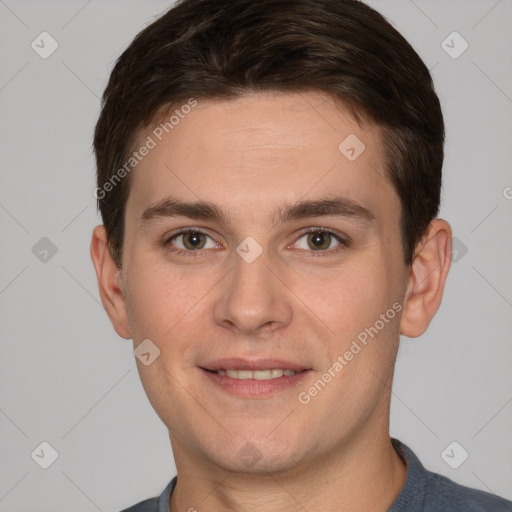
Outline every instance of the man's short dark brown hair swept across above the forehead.
<path id="1" fill-rule="evenodd" d="M 382 128 L 401 203 L 404 259 L 439 210 L 444 122 L 429 70 L 378 12 L 357 0 L 181 0 L 117 60 L 94 135 L 98 208 L 122 264 L 129 176 L 104 187 L 141 130 L 188 99 L 321 90 Z M 341 141 L 340 141 L 341 142 Z"/>

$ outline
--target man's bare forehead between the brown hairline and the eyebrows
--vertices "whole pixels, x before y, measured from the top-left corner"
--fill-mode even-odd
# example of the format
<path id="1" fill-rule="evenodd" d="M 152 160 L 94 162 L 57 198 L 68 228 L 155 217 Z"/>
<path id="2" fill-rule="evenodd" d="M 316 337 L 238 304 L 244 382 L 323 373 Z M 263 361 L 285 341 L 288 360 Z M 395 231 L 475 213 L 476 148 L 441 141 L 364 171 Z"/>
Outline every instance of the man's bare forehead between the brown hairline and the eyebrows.
<path id="1" fill-rule="evenodd" d="M 174 106 L 138 145 L 149 140 L 152 149 L 131 175 L 129 204 L 138 215 L 166 195 L 247 212 L 265 201 L 332 192 L 368 206 L 396 201 L 379 128 L 360 126 L 326 93 L 260 92 Z"/>

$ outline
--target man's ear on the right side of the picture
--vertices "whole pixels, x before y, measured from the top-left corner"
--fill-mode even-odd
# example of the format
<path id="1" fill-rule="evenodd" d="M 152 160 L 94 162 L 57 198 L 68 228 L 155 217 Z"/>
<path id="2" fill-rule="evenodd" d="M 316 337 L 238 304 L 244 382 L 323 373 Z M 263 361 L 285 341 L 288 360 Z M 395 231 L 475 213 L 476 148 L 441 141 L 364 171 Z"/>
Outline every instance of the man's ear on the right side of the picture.
<path id="1" fill-rule="evenodd" d="M 416 247 L 409 269 L 400 334 L 423 334 L 441 304 L 452 261 L 452 230 L 448 222 L 433 220 Z"/>

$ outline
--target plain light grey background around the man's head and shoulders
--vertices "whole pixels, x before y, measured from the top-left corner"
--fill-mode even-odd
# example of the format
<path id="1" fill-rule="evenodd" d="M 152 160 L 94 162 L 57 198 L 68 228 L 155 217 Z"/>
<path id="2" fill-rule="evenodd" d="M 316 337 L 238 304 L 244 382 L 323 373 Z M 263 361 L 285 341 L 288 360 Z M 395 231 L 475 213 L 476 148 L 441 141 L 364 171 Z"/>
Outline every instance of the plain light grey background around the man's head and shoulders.
<path id="1" fill-rule="evenodd" d="M 512 2 L 370 3 L 432 69 L 448 138 L 441 216 L 459 240 L 438 315 L 402 341 L 391 432 L 429 469 L 512 499 Z M 169 5 L 0 0 L 1 511 L 115 511 L 175 475 L 89 257 L 99 97 Z M 43 31 L 59 44 L 47 59 L 31 48 Z M 469 43 L 456 59 L 441 46 L 453 31 Z M 42 237 L 56 254 L 47 242 L 34 254 Z M 59 455 L 48 469 L 31 458 L 42 441 Z M 452 441 L 469 453 L 458 469 L 441 457 Z"/>

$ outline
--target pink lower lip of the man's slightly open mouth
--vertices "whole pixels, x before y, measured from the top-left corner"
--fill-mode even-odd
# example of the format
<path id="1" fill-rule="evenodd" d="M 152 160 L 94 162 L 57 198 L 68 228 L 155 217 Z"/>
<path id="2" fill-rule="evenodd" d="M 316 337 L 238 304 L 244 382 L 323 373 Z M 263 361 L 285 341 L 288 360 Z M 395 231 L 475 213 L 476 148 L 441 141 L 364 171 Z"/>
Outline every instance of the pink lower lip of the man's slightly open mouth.
<path id="1" fill-rule="evenodd" d="M 280 391 L 293 388 L 299 385 L 311 370 L 298 372 L 295 375 L 283 375 L 276 379 L 256 380 L 256 379 L 233 379 L 227 375 L 200 368 L 201 372 L 214 384 L 232 395 L 242 398 L 266 398 Z"/>

